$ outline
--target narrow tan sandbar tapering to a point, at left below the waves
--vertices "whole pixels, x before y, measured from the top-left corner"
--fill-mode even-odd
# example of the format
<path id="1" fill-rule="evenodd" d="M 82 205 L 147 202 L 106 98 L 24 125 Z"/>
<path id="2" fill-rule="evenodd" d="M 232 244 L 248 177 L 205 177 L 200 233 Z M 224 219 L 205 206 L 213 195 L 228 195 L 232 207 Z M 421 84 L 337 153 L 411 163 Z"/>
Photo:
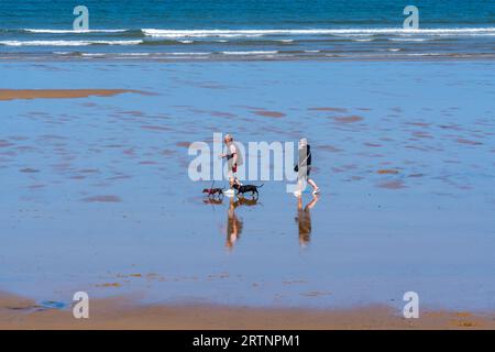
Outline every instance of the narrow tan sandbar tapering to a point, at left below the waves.
<path id="1" fill-rule="evenodd" d="M 138 91 L 129 89 L 0 89 L 0 100 L 112 97 L 124 92 Z"/>

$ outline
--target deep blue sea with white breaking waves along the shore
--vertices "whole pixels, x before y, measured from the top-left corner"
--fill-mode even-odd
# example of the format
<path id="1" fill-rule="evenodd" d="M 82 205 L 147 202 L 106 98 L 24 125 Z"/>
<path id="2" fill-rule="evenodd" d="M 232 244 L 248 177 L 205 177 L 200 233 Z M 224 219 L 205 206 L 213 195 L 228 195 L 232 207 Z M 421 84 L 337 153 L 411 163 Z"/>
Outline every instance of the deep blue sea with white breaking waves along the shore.
<path id="1" fill-rule="evenodd" d="M 403 28 L 411 4 L 418 30 Z M 0 1 L 3 59 L 491 58 L 494 40 L 491 0 Z"/>

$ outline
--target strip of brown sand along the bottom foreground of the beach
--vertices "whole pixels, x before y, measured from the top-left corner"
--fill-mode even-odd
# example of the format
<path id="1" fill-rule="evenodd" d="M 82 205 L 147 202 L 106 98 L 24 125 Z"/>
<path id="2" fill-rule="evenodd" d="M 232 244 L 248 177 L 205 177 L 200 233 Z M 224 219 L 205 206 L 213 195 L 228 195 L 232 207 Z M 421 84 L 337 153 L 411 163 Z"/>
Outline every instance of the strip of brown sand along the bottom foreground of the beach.
<path id="1" fill-rule="evenodd" d="M 419 319 L 405 319 L 386 306 L 333 310 L 205 304 L 143 306 L 117 297 L 91 301 L 89 319 L 75 319 L 70 308 L 45 308 L 3 294 L 0 329 L 495 329 L 495 315 L 430 310 L 421 312 Z"/>

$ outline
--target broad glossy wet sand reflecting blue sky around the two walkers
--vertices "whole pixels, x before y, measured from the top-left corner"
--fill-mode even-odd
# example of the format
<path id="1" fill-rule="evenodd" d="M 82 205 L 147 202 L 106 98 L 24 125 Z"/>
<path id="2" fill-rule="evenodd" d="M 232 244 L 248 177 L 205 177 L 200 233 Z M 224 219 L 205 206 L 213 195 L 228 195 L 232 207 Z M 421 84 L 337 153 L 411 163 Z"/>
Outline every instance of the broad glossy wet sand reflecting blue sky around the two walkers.
<path id="1" fill-rule="evenodd" d="M 410 290 L 421 309 L 495 311 L 492 63 L 55 66 L 0 72 L 30 88 L 72 91 L 70 82 L 90 77 L 91 87 L 144 94 L 0 101 L 9 190 L 0 202 L 0 290 L 62 307 L 79 290 L 95 305 L 139 294 L 111 316 L 129 326 L 145 316 L 138 307 L 150 307 L 138 305 L 155 302 L 166 306 L 150 311 L 184 317 L 194 308 L 168 305 L 253 307 L 234 315 L 201 306 L 211 327 L 228 312 L 232 326 L 251 315 L 264 324 L 262 307 L 270 319 L 293 314 L 279 319 L 295 322 L 282 307 L 308 319 L 311 309 L 333 317 L 363 306 L 398 314 Z M 242 143 L 307 136 L 318 204 L 304 195 L 301 211 L 286 182 L 265 180 L 258 202 L 208 201 L 201 190 L 211 182 L 188 177 L 188 146 L 211 146 L 213 132 Z M 66 314 L 34 311 L 7 312 Z"/>

